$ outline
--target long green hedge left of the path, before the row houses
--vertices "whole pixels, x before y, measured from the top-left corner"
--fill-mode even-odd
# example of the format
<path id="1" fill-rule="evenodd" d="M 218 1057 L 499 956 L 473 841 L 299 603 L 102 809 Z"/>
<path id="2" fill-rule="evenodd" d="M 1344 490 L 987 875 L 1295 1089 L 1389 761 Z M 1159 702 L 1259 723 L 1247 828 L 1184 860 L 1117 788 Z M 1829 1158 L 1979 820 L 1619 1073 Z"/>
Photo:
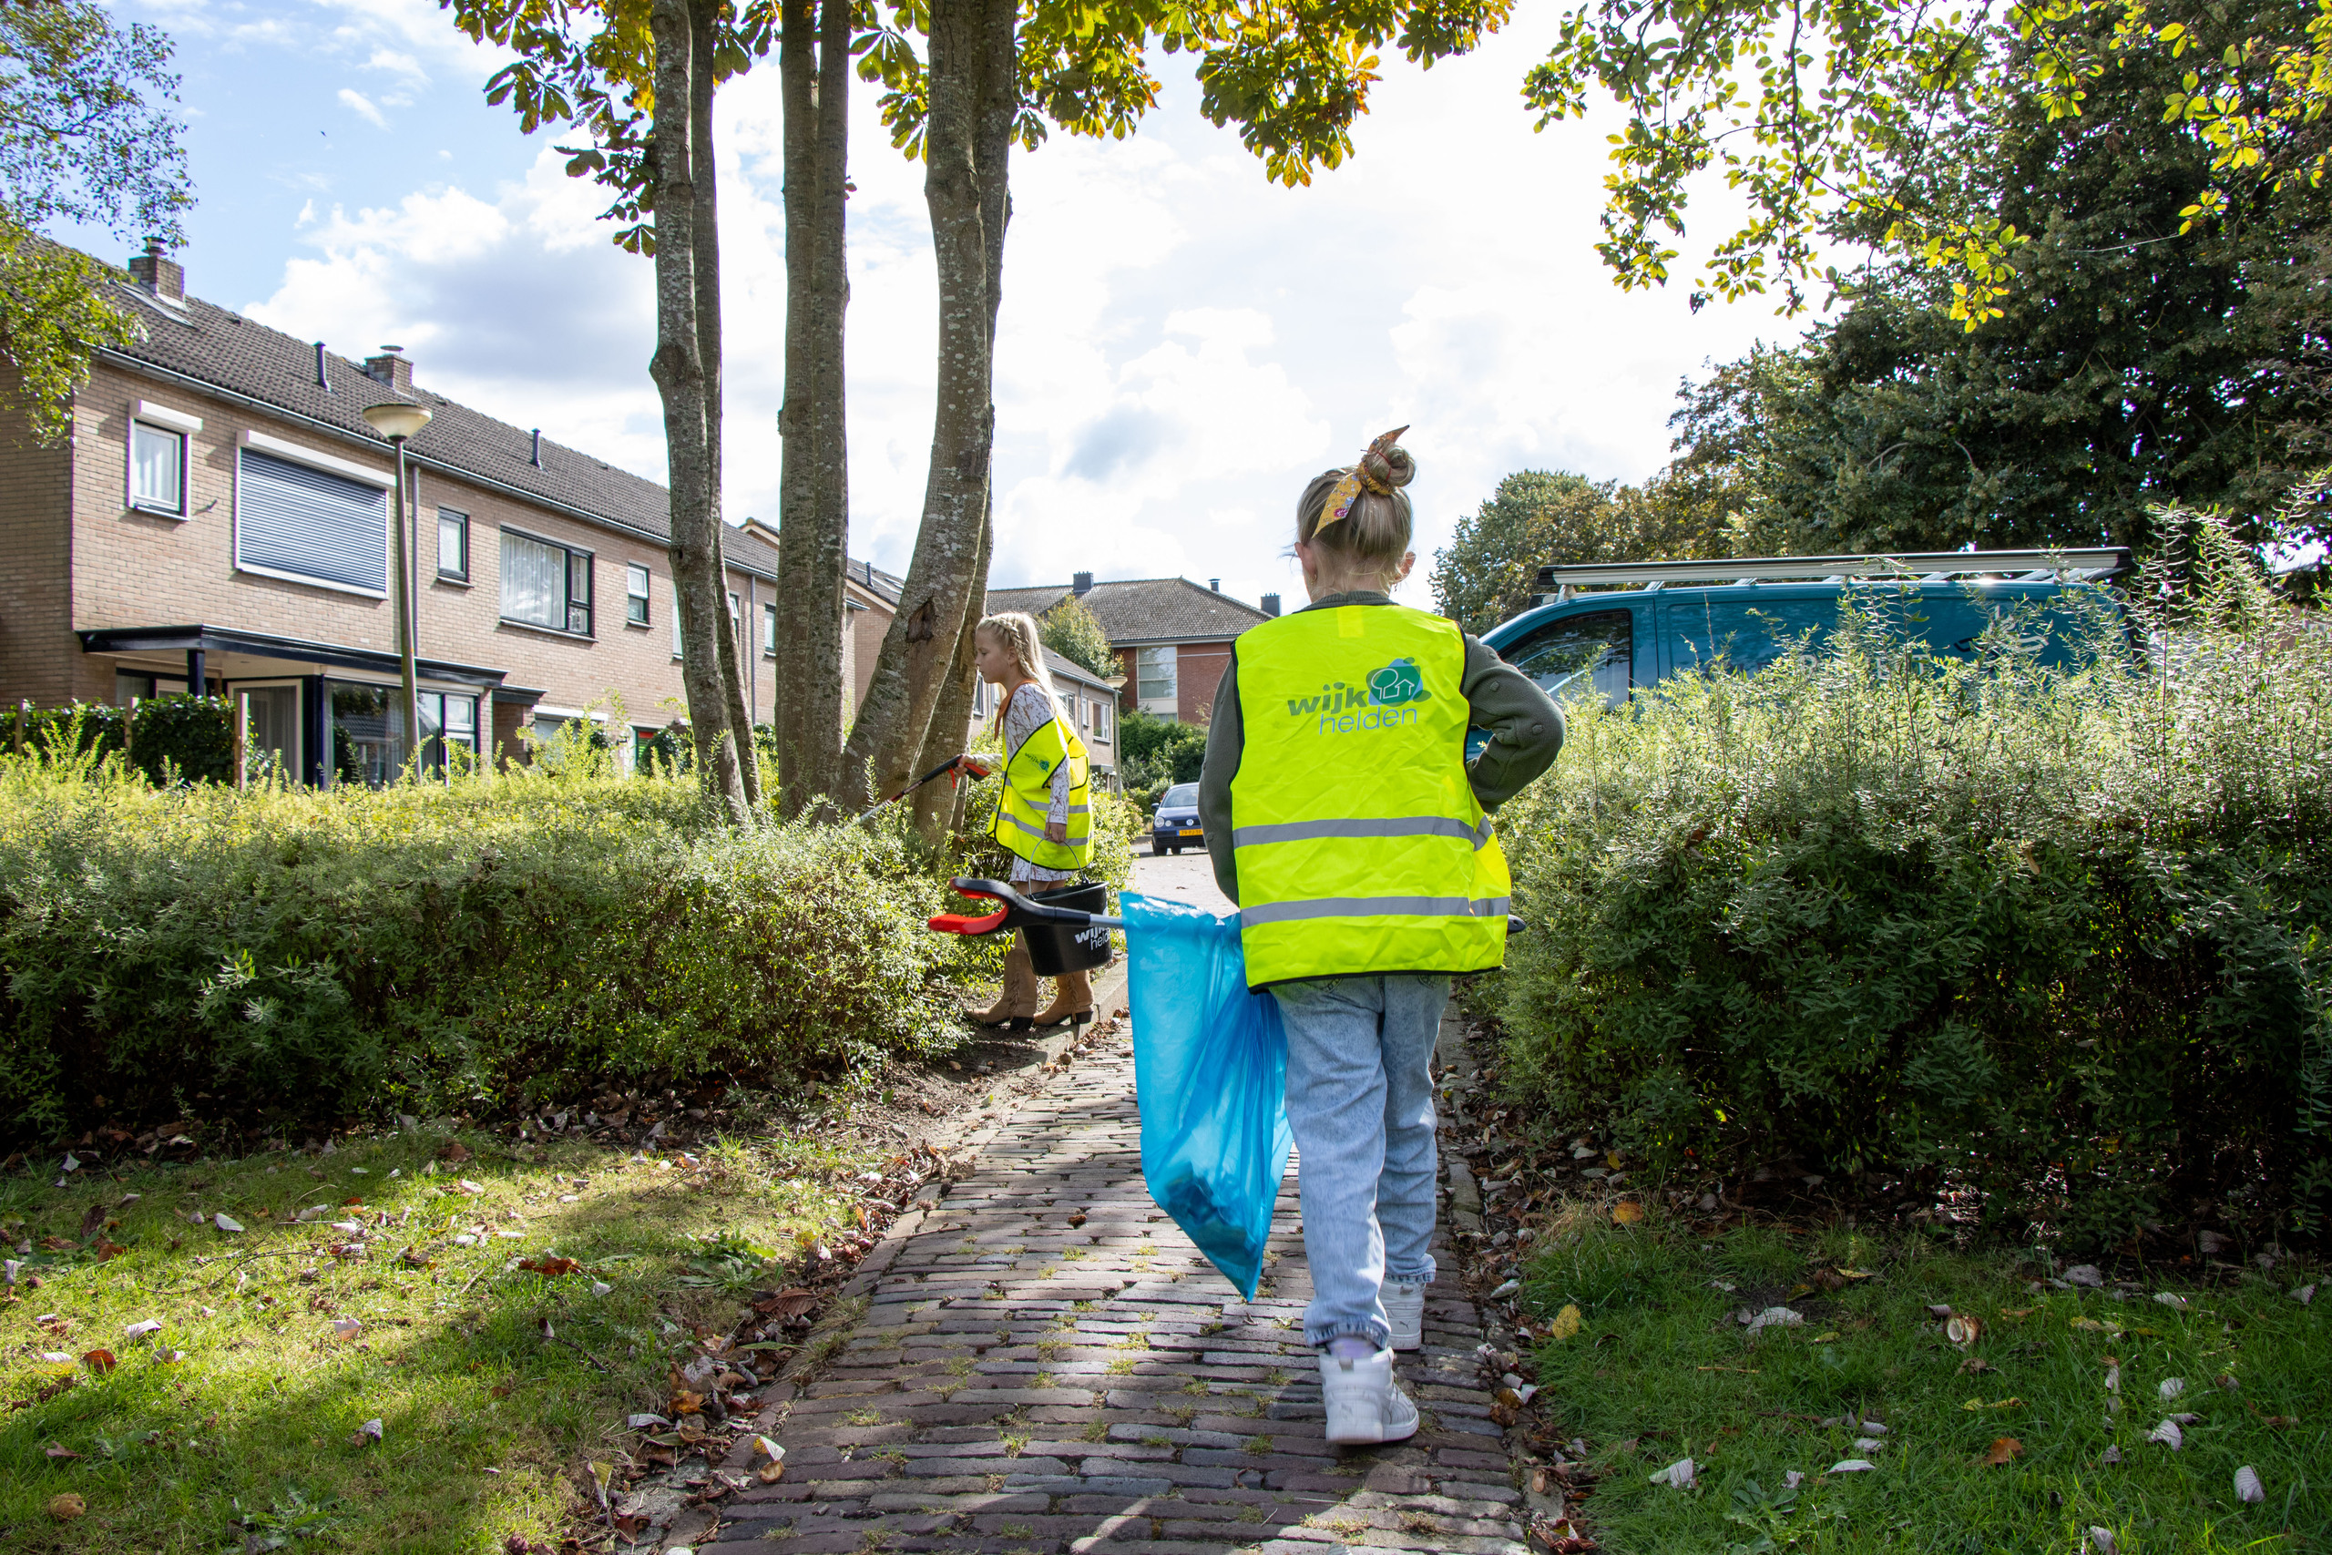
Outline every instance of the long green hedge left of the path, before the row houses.
<path id="1" fill-rule="evenodd" d="M 156 790 L 0 762 L 0 1131 L 833 1077 L 956 1040 L 895 832 L 728 832 L 609 762 Z"/>

